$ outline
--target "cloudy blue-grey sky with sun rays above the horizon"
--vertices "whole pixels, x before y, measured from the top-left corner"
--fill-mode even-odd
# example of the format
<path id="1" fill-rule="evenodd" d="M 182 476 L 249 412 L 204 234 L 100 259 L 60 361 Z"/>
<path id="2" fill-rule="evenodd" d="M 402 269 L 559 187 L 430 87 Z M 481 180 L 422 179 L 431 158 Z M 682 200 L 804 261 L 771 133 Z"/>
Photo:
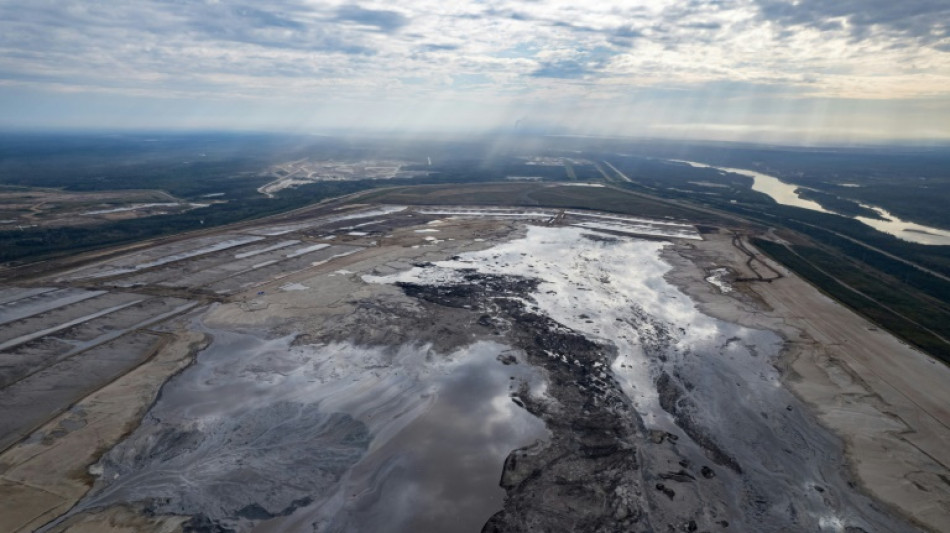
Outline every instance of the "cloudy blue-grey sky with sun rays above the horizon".
<path id="1" fill-rule="evenodd" d="M 950 140 L 948 0 L 0 0 L 0 128 Z"/>

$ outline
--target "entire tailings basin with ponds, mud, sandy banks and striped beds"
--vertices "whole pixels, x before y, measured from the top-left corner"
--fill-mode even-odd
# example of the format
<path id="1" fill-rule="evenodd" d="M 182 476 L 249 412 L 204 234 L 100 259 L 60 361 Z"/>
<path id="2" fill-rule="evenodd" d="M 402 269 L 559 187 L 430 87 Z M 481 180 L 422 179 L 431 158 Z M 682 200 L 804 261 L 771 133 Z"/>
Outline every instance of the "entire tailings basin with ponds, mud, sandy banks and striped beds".
<path id="1" fill-rule="evenodd" d="M 328 207 L 8 277 L 0 530 L 946 531 L 948 382 L 726 228 Z"/>

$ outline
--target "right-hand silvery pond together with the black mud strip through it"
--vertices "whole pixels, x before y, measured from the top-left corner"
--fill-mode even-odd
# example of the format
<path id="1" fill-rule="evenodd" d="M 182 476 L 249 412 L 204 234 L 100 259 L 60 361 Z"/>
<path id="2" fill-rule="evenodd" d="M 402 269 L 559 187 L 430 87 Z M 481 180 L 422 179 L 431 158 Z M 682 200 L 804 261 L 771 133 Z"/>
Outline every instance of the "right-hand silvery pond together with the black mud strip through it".
<path id="1" fill-rule="evenodd" d="M 372 278 L 484 313 L 547 372 L 543 400 L 519 399 L 552 439 L 509 456 L 488 530 L 908 528 L 852 488 L 837 440 L 781 386 L 781 339 L 697 310 L 664 280 L 667 246 L 529 227 Z"/>

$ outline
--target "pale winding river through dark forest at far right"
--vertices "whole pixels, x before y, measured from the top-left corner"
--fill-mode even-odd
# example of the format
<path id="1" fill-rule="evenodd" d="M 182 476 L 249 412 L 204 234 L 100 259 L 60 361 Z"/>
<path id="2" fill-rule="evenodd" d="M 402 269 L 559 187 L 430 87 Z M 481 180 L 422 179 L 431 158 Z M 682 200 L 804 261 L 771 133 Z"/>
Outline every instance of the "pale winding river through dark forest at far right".
<path id="1" fill-rule="evenodd" d="M 724 172 L 732 172 L 733 174 L 749 176 L 753 180 L 752 190 L 767 194 L 770 198 L 782 205 L 811 209 L 812 211 L 819 211 L 821 213 L 833 213 L 840 216 L 847 216 L 841 215 L 840 213 L 834 213 L 833 211 L 828 211 L 827 209 L 821 207 L 821 205 L 817 202 L 800 198 L 798 193 L 795 192 L 797 189 L 799 189 L 798 185 L 790 185 L 779 180 L 775 176 L 769 176 L 768 174 L 762 174 L 761 172 L 756 172 L 754 170 L 730 167 L 714 167 L 712 165 L 696 163 L 693 161 L 676 162 L 686 163 L 694 167 L 715 168 Z M 924 226 L 923 224 L 917 224 L 916 222 L 901 220 L 900 218 L 885 211 L 884 209 L 881 209 L 880 207 L 864 204 L 861 205 L 862 207 L 873 209 L 879 215 L 881 215 L 884 220 L 877 220 L 867 217 L 851 218 L 863 222 L 864 224 L 867 224 L 868 226 L 871 226 L 880 232 L 893 235 L 905 241 L 915 242 L 917 244 L 926 244 L 931 246 L 950 245 L 950 231 L 934 228 L 931 226 Z"/>

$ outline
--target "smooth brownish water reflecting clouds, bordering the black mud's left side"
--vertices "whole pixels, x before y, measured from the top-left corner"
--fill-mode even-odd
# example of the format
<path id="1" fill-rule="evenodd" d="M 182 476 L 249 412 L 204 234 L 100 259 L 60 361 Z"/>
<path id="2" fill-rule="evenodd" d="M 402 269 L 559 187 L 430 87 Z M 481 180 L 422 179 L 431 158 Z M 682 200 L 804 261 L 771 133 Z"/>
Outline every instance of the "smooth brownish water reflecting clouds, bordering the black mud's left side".
<path id="1" fill-rule="evenodd" d="M 353 468 L 340 530 L 476 532 L 501 509 L 504 458 L 546 435 L 508 395 L 511 376 L 537 378 L 500 364 L 504 349 L 467 348 L 465 361 L 437 380 L 437 401 Z"/>

